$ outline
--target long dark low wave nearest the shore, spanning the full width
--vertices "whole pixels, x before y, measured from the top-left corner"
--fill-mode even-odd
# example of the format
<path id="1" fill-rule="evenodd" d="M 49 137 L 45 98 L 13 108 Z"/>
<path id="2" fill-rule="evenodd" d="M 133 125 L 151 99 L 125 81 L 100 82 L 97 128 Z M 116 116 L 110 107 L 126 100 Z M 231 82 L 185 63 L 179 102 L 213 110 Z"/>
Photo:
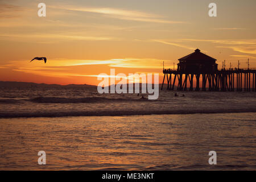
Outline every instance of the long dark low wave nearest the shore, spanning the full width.
<path id="1" fill-rule="evenodd" d="M 86 117 L 86 116 L 122 116 L 122 115 L 152 115 L 152 114 L 218 114 L 218 113 L 256 113 L 254 109 L 220 109 L 220 110 L 108 110 L 108 111 L 59 111 L 44 113 L 2 113 L 0 118 L 31 118 L 31 117 Z"/>

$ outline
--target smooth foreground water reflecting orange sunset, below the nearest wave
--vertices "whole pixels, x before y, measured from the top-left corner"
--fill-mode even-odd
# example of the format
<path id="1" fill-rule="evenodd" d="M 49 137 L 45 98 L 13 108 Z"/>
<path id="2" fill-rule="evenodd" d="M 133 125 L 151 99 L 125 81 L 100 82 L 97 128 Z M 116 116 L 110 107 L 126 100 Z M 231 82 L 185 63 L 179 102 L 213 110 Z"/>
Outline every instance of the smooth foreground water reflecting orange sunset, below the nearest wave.
<path id="1" fill-rule="evenodd" d="M 255 122 L 255 113 L 1 119 L 0 169 L 256 169 Z"/>

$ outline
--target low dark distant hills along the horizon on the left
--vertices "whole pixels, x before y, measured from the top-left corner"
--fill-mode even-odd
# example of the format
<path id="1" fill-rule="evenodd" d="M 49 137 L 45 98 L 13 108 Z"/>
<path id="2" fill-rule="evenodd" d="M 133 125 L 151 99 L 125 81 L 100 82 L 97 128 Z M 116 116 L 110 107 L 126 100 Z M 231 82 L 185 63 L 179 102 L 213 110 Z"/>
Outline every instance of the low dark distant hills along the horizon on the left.
<path id="1" fill-rule="evenodd" d="M 58 85 L 58 84 L 36 84 L 33 82 L 18 82 L 18 81 L 0 81 L 0 87 L 5 88 L 27 88 L 27 87 L 90 87 L 90 88 L 97 88 L 94 85 L 76 85 L 76 84 L 69 84 L 69 85 Z"/>

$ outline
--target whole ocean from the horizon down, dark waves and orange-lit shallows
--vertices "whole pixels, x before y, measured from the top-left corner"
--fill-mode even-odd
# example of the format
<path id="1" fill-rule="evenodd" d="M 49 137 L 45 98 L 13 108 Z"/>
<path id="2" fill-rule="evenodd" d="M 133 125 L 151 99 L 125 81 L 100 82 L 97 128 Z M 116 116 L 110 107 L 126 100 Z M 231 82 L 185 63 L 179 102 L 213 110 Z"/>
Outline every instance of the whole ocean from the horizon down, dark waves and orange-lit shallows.
<path id="1" fill-rule="evenodd" d="M 255 92 L 163 90 L 158 100 L 83 86 L 0 93 L 2 170 L 256 169 Z"/>

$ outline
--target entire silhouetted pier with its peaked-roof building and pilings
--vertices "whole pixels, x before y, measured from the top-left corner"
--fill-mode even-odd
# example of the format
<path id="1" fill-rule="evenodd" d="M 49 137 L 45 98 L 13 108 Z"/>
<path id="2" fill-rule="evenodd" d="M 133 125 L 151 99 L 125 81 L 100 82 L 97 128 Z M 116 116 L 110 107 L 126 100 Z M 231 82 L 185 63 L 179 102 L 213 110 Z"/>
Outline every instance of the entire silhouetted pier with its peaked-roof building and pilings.
<path id="1" fill-rule="evenodd" d="M 256 92 L 256 70 L 249 69 L 249 63 L 248 69 L 218 70 L 216 59 L 201 53 L 199 49 L 179 61 L 176 70 L 163 68 L 161 90 L 166 79 L 167 90 L 174 90 L 177 83 L 176 89 L 183 91 Z"/>

